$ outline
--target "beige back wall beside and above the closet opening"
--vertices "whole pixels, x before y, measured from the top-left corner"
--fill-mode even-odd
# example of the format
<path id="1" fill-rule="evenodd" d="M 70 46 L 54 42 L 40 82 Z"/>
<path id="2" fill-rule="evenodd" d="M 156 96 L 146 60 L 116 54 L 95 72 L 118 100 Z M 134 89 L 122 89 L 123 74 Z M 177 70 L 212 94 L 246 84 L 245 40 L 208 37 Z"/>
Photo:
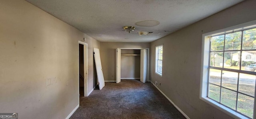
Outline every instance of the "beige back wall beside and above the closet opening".
<path id="1" fill-rule="evenodd" d="M 100 42 L 100 58 L 105 80 L 116 80 L 117 48 L 149 48 L 150 43 Z"/>

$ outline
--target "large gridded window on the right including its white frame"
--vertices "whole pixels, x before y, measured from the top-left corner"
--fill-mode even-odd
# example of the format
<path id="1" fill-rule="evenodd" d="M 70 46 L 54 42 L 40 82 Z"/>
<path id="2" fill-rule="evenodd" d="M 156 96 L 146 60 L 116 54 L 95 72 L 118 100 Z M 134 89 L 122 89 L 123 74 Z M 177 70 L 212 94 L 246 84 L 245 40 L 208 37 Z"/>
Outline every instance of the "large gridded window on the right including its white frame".
<path id="1" fill-rule="evenodd" d="M 234 118 L 255 118 L 256 25 L 203 38 L 200 99 Z"/>

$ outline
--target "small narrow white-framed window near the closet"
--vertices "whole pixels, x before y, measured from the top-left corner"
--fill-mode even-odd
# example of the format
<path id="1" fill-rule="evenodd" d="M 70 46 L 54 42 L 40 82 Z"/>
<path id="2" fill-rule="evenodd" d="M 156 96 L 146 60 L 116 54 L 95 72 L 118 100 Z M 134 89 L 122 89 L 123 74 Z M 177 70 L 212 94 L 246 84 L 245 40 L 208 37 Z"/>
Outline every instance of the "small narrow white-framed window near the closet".
<path id="1" fill-rule="evenodd" d="M 156 46 L 156 74 L 162 76 L 163 45 Z"/>

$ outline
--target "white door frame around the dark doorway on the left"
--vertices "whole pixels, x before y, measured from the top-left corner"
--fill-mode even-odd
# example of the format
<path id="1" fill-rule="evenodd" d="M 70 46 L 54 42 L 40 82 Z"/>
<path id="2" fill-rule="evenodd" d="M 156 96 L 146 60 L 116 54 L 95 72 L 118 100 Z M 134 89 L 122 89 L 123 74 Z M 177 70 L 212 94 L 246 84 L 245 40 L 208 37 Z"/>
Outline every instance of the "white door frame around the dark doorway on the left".
<path id="1" fill-rule="evenodd" d="M 88 44 L 78 41 L 78 92 L 79 92 L 79 44 L 84 45 L 84 97 L 88 96 Z"/>

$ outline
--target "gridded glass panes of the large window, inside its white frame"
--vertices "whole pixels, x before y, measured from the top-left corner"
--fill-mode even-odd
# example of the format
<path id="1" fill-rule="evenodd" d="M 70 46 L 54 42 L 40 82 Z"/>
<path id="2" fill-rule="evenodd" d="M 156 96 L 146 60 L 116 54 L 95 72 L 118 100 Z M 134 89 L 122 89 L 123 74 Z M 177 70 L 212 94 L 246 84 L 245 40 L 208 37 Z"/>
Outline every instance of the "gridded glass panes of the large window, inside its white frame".
<path id="1" fill-rule="evenodd" d="M 212 37 L 209 55 L 207 96 L 252 118 L 256 76 L 240 71 L 256 72 L 256 28 Z"/>

